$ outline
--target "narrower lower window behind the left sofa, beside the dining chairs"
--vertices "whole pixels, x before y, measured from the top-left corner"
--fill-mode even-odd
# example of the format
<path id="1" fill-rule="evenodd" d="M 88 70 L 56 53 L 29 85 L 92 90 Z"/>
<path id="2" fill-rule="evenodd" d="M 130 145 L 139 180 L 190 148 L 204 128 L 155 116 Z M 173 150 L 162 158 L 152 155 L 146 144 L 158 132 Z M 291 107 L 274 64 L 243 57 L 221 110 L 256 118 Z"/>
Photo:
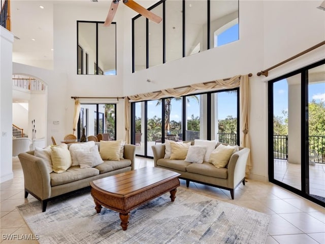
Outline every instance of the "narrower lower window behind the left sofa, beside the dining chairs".
<path id="1" fill-rule="evenodd" d="M 87 116 L 84 111 L 88 111 Z M 109 138 L 116 139 L 116 104 L 81 104 L 78 138 L 83 127 L 86 127 L 86 136 L 108 133 Z"/>

